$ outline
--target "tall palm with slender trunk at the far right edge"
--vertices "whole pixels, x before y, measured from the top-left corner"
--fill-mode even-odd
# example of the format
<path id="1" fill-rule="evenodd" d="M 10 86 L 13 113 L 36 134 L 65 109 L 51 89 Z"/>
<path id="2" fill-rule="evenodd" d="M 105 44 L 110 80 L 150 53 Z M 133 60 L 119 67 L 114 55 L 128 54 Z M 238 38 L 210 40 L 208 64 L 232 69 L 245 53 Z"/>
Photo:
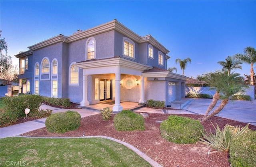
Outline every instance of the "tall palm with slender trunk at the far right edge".
<path id="1" fill-rule="evenodd" d="M 248 46 L 244 49 L 244 54 L 236 54 L 236 58 L 238 58 L 241 62 L 244 62 L 246 64 L 251 65 L 250 69 L 250 77 L 251 77 L 251 82 L 250 85 L 254 85 L 253 82 L 253 64 L 256 63 L 256 50 L 255 48 L 252 48 L 251 46 Z"/>

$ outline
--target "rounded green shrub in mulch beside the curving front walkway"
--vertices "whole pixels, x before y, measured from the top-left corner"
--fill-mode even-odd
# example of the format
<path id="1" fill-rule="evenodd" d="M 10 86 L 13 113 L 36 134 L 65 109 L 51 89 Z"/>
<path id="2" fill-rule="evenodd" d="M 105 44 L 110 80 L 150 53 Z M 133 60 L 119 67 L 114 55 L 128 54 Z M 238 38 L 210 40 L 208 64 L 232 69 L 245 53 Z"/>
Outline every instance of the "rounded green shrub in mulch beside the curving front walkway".
<path id="1" fill-rule="evenodd" d="M 80 126 L 81 115 L 76 111 L 65 111 L 50 115 L 45 126 L 48 132 L 65 133 L 74 131 Z"/>

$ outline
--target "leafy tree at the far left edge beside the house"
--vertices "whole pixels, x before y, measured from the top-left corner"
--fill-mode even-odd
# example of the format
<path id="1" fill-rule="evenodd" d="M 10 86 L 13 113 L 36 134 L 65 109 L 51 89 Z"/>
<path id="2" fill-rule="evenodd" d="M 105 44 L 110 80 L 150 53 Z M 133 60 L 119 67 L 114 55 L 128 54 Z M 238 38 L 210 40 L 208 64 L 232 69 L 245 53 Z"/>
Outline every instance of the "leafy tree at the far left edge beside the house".
<path id="1" fill-rule="evenodd" d="M 0 30 L 0 37 L 1 37 Z M 3 84 L 12 84 L 12 81 L 17 77 L 17 65 L 12 65 L 12 57 L 7 55 L 7 42 L 5 38 L 0 39 L 0 80 Z M 5 54 L 3 54 L 5 50 Z"/>

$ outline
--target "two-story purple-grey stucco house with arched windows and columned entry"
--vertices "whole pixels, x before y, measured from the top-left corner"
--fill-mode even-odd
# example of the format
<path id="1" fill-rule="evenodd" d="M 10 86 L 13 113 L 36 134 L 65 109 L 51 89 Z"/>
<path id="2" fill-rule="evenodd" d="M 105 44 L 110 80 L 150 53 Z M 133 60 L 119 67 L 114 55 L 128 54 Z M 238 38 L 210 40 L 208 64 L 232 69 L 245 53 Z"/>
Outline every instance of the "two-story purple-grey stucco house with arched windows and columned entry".
<path id="1" fill-rule="evenodd" d="M 117 20 L 28 49 L 15 56 L 20 85 L 26 79 L 32 94 L 70 98 L 82 106 L 113 100 L 113 111 L 122 110 L 120 101 L 154 99 L 168 105 L 185 96 L 187 77 L 166 70 L 169 50 Z"/>

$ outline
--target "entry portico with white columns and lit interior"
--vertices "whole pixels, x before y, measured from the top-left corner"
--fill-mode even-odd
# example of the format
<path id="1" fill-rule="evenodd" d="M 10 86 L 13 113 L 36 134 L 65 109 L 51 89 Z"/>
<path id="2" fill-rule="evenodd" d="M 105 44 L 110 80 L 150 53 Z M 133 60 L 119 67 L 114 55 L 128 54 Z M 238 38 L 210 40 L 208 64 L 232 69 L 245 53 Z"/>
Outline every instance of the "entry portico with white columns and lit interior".
<path id="1" fill-rule="evenodd" d="M 144 77 L 142 76 L 142 72 L 145 70 L 149 70 L 152 66 L 147 66 L 144 64 L 140 64 L 137 62 L 133 62 L 131 60 L 127 60 L 125 58 L 121 58 L 115 56 L 114 58 L 106 58 L 101 60 L 87 60 L 82 62 L 77 62 L 76 66 L 80 69 L 83 69 L 83 99 L 80 102 L 81 106 L 90 105 L 92 103 L 98 103 L 100 98 L 96 95 L 100 91 L 97 89 L 97 82 L 93 79 L 96 78 L 105 78 L 105 79 L 114 79 L 115 82 L 111 82 L 113 87 L 113 97 L 112 99 L 115 100 L 115 105 L 113 107 L 113 111 L 122 111 L 122 105 L 120 103 L 121 100 L 121 74 L 124 78 L 124 81 L 129 82 L 128 86 L 139 86 L 140 88 L 140 98 L 137 101 L 138 103 L 144 103 L 145 95 L 144 95 Z M 90 77 L 89 77 L 90 76 Z M 92 77 L 93 76 L 93 77 Z M 91 80 L 90 80 L 90 79 Z M 127 80 L 126 78 L 130 78 Z M 136 79 L 136 80 L 135 80 Z M 137 83 L 140 83 L 136 85 Z M 136 83 L 136 84 L 135 84 Z M 126 84 L 126 83 L 123 83 Z M 91 95 L 92 97 L 88 98 L 88 87 L 91 88 Z M 129 89 L 129 88 L 128 88 Z M 94 90 L 94 93 L 93 93 Z M 111 91 L 111 90 L 110 90 Z M 104 93 L 106 89 L 104 89 Z M 99 93 L 100 94 L 100 93 Z M 90 96 L 91 96 L 90 95 Z M 128 95 L 132 95 L 131 93 Z M 96 98 L 97 97 L 97 98 Z M 90 101 L 89 101 L 90 99 Z"/>

